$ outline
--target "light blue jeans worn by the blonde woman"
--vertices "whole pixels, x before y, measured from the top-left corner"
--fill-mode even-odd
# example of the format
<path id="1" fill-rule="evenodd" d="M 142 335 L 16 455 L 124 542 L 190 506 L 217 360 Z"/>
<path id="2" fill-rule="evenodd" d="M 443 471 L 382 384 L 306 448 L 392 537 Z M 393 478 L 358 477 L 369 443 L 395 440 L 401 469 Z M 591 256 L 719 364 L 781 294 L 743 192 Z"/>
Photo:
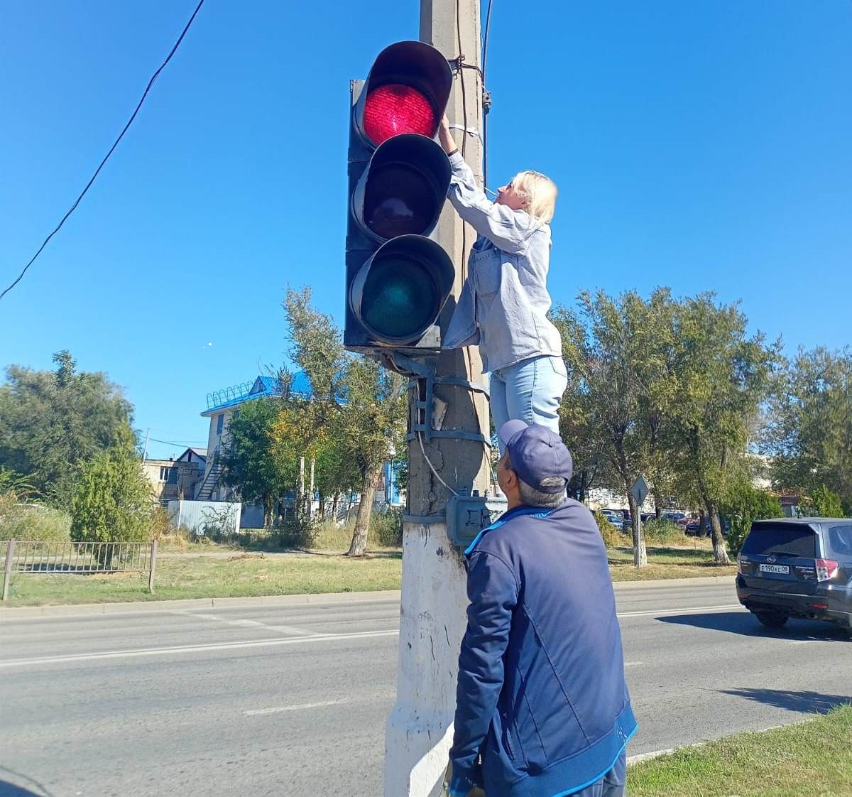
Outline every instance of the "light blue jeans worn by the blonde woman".
<path id="1" fill-rule="evenodd" d="M 561 357 L 542 355 L 491 374 L 491 414 L 499 431 L 507 420 L 541 424 L 559 434 L 559 402 L 568 384 Z M 500 442 L 503 455 L 503 442 Z"/>

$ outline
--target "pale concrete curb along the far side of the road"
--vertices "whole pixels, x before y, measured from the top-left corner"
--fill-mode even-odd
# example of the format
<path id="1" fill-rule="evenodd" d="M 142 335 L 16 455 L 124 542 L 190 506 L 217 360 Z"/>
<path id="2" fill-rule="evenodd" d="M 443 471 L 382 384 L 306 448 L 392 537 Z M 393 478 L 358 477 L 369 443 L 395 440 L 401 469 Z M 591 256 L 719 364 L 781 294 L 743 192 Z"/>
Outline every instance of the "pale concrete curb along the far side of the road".
<path id="1" fill-rule="evenodd" d="M 619 592 L 671 586 L 682 588 L 685 583 L 692 586 L 716 586 L 728 583 L 734 588 L 730 575 L 701 576 L 691 579 L 653 579 L 647 581 L 616 581 L 613 584 L 616 596 Z M 180 600 L 128 601 L 116 604 L 71 604 L 58 606 L 14 606 L 0 608 L 0 621 L 32 617 L 70 617 L 85 615 L 146 614 L 174 609 L 211 609 L 227 606 L 300 606 L 304 604 L 350 604 L 371 600 L 399 600 L 399 590 L 377 592 L 314 592 L 301 595 L 263 595 L 252 598 L 182 598 Z"/>

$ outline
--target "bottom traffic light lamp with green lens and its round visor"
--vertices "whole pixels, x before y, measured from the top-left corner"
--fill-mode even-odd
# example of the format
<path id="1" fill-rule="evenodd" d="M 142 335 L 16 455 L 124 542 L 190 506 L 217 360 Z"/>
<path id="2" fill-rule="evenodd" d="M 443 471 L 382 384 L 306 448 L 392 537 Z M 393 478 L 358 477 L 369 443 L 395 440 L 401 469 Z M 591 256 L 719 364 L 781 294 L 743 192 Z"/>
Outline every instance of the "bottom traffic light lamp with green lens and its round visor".
<path id="1" fill-rule="evenodd" d="M 349 303 L 377 342 L 409 344 L 437 321 L 452 280 L 452 261 L 440 245 L 420 235 L 400 235 L 364 263 Z"/>

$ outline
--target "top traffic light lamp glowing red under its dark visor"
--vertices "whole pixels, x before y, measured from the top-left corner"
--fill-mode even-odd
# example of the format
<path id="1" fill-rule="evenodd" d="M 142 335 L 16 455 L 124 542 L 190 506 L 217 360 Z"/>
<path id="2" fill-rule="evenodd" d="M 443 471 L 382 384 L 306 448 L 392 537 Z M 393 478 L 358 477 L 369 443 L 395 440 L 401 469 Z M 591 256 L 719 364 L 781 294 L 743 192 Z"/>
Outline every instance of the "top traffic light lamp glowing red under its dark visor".
<path id="1" fill-rule="evenodd" d="M 423 42 L 396 42 L 378 54 L 355 107 L 355 125 L 377 147 L 392 136 L 432 138 L 452 88 L 446 58 Z"/>

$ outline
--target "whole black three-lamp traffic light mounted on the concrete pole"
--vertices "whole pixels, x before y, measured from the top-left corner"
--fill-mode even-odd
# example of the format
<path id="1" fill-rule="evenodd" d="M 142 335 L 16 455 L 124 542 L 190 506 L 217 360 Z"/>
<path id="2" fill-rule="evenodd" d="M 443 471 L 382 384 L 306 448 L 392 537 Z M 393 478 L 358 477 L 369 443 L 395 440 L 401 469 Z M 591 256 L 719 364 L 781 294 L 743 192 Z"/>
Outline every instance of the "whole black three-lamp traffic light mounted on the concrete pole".
<path id="1" fill-rule="evenodd" d="M 452 87 L 446 58 L 423 42 L 383 49 L 352 82 L 346 234 L 348 349 L 440 349 L 436 324 L 452 260 L 429 234 L 450 184 L 434 140 Z"/>

